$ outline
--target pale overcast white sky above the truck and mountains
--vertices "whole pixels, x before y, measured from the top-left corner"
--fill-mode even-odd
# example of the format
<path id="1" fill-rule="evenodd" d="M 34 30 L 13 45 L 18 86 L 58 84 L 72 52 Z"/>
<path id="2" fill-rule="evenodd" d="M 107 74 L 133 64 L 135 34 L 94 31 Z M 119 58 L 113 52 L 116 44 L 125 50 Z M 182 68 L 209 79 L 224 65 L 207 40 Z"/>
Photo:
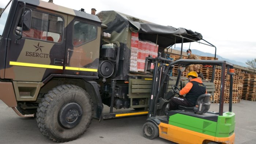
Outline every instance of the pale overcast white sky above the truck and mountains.
<path id="1" fill-rule="evenodd" d="M 48 1 L 48 0 L 44 0 Z M 256 58 L 256 8 L 253 0 L 53 0 L 74 10 L 115 10 L 164 26 L 196 31 L 217 47 L 217 54 L 245 62 Z M 4 7 L 7 0 L 0 1 Z M 184 45 L 188 49 L 189 43 Z M 191 49 L 215 49 L 191 43 Z"/>

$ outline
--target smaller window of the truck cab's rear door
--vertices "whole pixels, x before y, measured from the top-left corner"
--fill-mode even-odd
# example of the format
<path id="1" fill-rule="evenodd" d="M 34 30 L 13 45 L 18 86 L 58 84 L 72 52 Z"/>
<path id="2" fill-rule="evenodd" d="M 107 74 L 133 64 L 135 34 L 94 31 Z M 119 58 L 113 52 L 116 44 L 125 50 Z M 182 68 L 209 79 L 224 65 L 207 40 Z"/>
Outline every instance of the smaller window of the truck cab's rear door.
<path id="1" fill-rule="evenodd" d="M 73 45 L 80 46 L 97 38 L 97 27 L 90 23 L 74 22 Z"/>

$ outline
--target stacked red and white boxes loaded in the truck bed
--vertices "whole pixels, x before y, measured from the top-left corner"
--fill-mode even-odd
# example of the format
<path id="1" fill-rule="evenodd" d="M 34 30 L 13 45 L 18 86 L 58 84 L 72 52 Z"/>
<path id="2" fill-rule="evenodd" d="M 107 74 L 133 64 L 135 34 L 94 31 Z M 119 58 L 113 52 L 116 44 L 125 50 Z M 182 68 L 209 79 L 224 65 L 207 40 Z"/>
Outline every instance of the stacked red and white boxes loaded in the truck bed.
<path id="1" fill-rule="evenodd" d="M 150 41 L 142 41 L 139 39 L 139 33 L 132 33 L 131 37 L 131 59 L 130 71 L 144 72 L 146 57 L 157 57 L 158 45 Z M 151 69 L 154 65 L 151 64 Z"/>

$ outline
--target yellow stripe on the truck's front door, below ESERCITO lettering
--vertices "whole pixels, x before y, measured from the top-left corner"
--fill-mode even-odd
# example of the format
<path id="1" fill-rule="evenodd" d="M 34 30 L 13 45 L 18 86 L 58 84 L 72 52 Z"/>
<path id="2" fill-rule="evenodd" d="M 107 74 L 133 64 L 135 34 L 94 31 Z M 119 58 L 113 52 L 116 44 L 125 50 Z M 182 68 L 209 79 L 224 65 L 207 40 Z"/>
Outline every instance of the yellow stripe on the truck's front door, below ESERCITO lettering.
<path id="1" fill-rule="evenodd" d="M 35 67 L 35 68 L 63 69 L 63 66 L 45 65 L 45 64 L 33 64 L 33 63 L 16 62 L 16 61 L 10 61 L 10 65 L 23 66 L 23 67 Z"/>

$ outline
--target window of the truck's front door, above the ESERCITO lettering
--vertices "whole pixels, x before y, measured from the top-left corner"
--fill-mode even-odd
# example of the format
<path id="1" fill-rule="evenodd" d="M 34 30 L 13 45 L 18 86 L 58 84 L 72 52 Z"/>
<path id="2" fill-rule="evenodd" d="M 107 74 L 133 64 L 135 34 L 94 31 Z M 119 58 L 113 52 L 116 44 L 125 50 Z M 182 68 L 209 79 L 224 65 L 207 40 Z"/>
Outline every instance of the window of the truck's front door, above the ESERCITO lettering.
<path id="1" fill-rule="evenodd" d="M 63 19 L 56 15 L 32 10 L 31 28 L 22 36 L 44 41 L 61 42 Z"/>

